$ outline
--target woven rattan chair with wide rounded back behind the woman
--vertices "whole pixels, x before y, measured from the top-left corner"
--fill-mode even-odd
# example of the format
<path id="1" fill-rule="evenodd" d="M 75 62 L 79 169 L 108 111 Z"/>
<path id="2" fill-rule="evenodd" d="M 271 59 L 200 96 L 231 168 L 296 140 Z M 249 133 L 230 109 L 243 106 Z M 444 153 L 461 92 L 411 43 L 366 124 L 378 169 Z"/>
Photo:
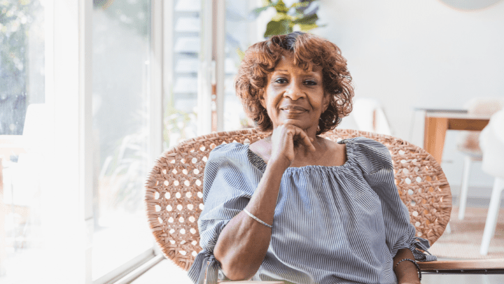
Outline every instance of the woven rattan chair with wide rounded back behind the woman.
<path id="1" fill-rule="evenodd" d="M 157 159 L 146 181 L 145 202 L 149 225 L 165 257 L 188 270 L 202 250 L 197 219 L 204 206 L 203 172 L 211 150 L 222 143 L 253 143 L 265 136 L 256 129 L 209 134 L 183 141 Z M 363 136 L 386 145 L 416 236 L 431 245 L 439 239 L 450 219 L 451 192 L 440 165 L 428 152 L 402 139 L 370 132 L 335 129 L 323 136 L 333 141 Z M 502 273 L 504 262 L 500 261 L 437 261 L 420 266 L 427 273 Z"/>

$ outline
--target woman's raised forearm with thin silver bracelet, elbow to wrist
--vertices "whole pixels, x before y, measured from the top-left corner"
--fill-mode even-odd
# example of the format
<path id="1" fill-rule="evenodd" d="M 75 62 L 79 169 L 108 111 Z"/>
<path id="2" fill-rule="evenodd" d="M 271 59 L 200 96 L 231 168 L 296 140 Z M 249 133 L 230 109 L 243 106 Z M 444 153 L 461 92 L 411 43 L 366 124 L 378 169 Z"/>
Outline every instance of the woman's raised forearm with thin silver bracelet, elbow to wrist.
<path id="1" fill-rule="evenodd" d="M 246 209 L 255 217 L 273 224 L 281 177 L 290 162 L 269 161 L 257 190 Z M 225 276 L 232 280 L 251 278 L 259 269 L 269 247 L 272 229 L 248 216 L 236 215 L 218 237 L 214 248 Z"/>

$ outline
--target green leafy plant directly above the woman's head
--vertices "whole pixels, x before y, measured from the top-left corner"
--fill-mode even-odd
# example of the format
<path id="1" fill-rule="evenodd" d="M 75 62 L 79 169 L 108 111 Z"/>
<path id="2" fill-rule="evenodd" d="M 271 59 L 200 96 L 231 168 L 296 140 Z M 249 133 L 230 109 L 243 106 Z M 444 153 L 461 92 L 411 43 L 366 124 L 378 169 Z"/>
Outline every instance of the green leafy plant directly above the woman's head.
<path id="1" fill-rule="evenodd" d="M 253 17 L 257 17 L 263 11 L 270 7 L 275 8 L 276 14 L 267 23 L 264 37 L 270 37 L 280 34 L 288 34 L 294 31 L 294 27 L 299 27 L 300 31 L 309 31 L 316 27 L 325 25 L 317 24 L 318 0 L 300 0 L 290 7 L 287 7 L 283 0 L 272 1 L 264 0 L 264 6 L 252 11 Z"/>

